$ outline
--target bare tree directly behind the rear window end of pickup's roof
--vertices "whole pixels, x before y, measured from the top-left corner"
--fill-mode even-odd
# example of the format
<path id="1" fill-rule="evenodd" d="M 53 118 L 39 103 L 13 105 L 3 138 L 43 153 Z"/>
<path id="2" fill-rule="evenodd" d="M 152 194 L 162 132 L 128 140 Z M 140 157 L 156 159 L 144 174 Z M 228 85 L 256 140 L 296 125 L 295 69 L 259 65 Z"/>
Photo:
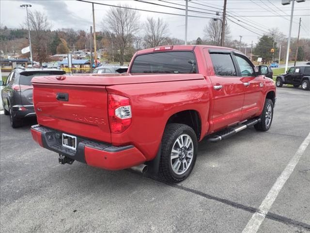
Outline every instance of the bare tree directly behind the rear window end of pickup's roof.
<path id="1" fill-rule="evenodd" d="M 165 44 L 168 34 L 168 24 L 161 18 L 148 17 L 145 23 L 144 42 L 146 48 Z"/>

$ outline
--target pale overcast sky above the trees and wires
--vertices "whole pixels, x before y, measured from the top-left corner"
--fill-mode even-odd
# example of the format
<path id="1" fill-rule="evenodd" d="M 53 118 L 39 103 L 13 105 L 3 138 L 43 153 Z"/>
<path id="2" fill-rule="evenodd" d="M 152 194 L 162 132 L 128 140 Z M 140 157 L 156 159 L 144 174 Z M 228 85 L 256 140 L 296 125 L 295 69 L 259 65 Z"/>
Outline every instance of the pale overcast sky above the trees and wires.
<path id="1" fill-rule="evenodd" d="M 126 4 L 130 7 L 137 9 L 145 9 L 166 13 L 174 13 L 184 15 L 185 10 L 178 10 L 168 8 L 164 6 L 157 6 L 153 4 L 147 4 L 134 0 L 93 0 L 94 2 L 106 3 L 110 5 Z M 185 0 L 144 0 L 154 2 L 162 5 L 169 5 L 173 7 L 185 9 Z M 167 1 L 171 3 L 167 3 Z M 202 17 L 216 17 L 215 11 L 220 11 L 217 8 L 223 7 L 224 0 L 190 0 L 188 2 L 189 10 L 199 11 L 188 12 L 191 16 Z M 0 22 L 1 26 L 7 26 L 9 28 L 20 28 L 20 25 L 25 20 L 26 10 L 21 9 L 19 5 L 30 3 L 32 5 L 31 10 L 38 10 L 45 13 L 48 20 L 53 25 L 53 29 L 60 28 L 74 28 L 76 30 L 85 30 L 89 32 L 89 28 L 92 25 L 92 4 L 80 2 L 76 0 L 0 0 Z M 176 5 L 177 3 L 181 5 Z M 199 5 L 203 4 L 203 5 Z M 291 3 L 292 4 L 292 3 Z M 196 7 L 196 8 L 192 8 Z M 102 30 L 105 26 L 104 17 L 109 10 L 109 6 L 103 6 L 95 4 L 95 20 L 96 31 Z M 256 28 L 264 31 L 268 31 L 269 28 L 279 28 L 279 30 L 288 35 L 289 33 L 289 18 L 290 17 L 270 17 L 275 15 L 290 15 L 291 5 L 283 6 L 281 0 L 227 0 L 227 13 L 233 16 L 230 17 L 236 23 L 242 24 L 248 27 L 253 32 L 250 32 L 241 26 L 228 20 L 228 24 L 231 29 L 231 36 L 233 39 L 239 40 L 239 35 L 242 35 L 242 41 L 251 44 L 251 41 L 255 44 L 259 35 L 263 34 Z M 165 15 L 159 13 L 150 13 L 139 11 L 141 22 L 145 21 L 147 17 L 162 17 L 169 23 L 169 31 L 171 37 L 184 39 L 185 30 L 185 17 Z M 207 13 L 207 14 L 205 14 Z M 214 15 L 213 15 L 214 14 Z M 307 15 L 307 16 L 299 16 Z M 246 17 L 250 16 L 250 17 Z M 264 16 L 264 17 L 253 17 Z M 302 18 L 302 28 L 300 36 L 304 38 L 310 38 L 310 0 L 297 3 L 294 5 L 294 23 L 292 36 L 297 37 L 298 33 L 298 21 L 299 17 Z M 237 20 L 242 22 L 238 22 Z M 204 37 L 203 28 L 208 23 L 208 18 L 196 18 L 188 17 L 188 40 L 194 40 L 197 37 Z M 247 25 L 250 24 L 251 26 Z M 252 27 L 254 26 L 254 27 Z M 143 28 L 142 28 L 143 30 Z M 141 32 L 142 33 L 142 32 Z"/>

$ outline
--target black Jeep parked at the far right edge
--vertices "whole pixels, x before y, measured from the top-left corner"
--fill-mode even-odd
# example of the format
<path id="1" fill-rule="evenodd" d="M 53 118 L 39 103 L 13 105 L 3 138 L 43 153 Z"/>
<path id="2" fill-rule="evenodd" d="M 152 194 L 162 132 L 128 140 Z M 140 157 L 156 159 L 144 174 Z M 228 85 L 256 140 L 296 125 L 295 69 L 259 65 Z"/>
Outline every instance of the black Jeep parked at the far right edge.
<path id="1" fill-rule="evenodd" d="M 283 84 L 293 84 L 304 90 L 310 89 L 310 67 L 291 67 L 286 74 L 277 76 L 276 85 L 281 87 Z"/>

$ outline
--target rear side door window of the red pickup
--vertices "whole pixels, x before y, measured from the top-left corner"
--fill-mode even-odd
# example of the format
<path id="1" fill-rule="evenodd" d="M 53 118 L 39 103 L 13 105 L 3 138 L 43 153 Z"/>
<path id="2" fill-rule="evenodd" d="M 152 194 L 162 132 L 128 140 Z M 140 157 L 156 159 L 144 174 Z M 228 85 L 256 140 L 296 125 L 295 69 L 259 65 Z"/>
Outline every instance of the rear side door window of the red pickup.
<path id="1" fill-rule="evenodd" d="M 229 53 L 210 53 L 214 72 L 218 76 L 237 76 L 233 59 Z"/>

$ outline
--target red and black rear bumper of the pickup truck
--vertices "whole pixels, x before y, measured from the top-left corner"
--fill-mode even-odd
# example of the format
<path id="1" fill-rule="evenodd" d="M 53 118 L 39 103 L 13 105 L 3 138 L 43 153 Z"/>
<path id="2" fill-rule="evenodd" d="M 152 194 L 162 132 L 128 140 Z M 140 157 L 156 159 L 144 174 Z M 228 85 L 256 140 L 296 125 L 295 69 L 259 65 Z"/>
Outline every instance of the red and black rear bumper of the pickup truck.
<path id="1" fill-rule="evenodd" d="M 107 170 L 121 170 L 142 164 L 146 161 L 143 154 L 132 145 L 114 147 L 77 136 L 77 150 L 62 146 L 62 132 L 40 125 L 31 126 L 34 141 L 41 147 L 65 155 L 71 159 Z"/>

